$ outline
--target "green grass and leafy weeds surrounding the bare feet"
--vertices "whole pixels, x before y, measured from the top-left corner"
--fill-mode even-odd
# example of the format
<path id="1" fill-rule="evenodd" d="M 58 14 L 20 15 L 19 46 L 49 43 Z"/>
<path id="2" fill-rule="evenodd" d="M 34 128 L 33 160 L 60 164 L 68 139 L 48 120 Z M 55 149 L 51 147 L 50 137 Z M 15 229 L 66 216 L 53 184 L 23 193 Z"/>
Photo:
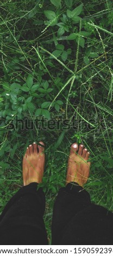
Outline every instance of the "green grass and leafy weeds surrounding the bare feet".
<path id="1" fill-rule="evenodd" d="M 53 2 L 3 1 L 0 19 L 0 211 L 22 186 L 26 147 L 46 142 L 42 187 L 50 240 L 53 203 L 65 185 L 73 142 L 91 153 L 85 188 L 92 202 L 113 211 L 112 1 L 84 1 L 83 7 L 79 1 L 70 0 L 70 7 L 67 0 L 61 7 Z M 40 129 L 42 115 L 46 121 Z M 54 129 L 47 126 L 49 118 Z M 21 126 L 25 119 L 27 128 Z"/>

